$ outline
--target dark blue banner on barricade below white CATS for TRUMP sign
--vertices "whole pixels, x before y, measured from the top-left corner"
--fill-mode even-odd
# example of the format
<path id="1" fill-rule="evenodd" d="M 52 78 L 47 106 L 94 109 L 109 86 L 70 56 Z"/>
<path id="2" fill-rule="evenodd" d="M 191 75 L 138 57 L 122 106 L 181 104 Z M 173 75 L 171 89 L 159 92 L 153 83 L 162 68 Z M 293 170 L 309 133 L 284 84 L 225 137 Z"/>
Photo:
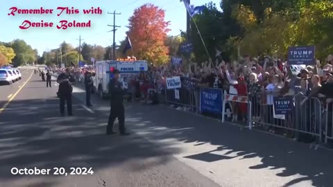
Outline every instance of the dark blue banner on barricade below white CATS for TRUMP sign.
<path id="1" fill-rule="evenodd" d="M 189 107 L 191 110 L 194 109 L 196 103 L 193 89 L 185 87 L 181 87 L 180 89 L 167 89 L 167 87 L 165 87 L 164 90 L 166 103 Z"/>

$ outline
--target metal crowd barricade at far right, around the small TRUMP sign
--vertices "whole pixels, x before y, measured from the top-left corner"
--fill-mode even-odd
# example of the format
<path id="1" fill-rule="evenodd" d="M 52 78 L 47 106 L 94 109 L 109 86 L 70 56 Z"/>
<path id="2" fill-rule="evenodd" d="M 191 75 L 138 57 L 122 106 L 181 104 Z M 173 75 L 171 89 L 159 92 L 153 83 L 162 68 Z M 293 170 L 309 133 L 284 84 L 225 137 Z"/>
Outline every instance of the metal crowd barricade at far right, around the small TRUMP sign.
<path id="1" fill-rule="evenodd" d="M 303 105 L 302 100 L 306 97 L 302 94 L 293 96 L 293 106 L 288 114 L 275 114 L 273 105 L 273 94 L 262 92 L 249 96 L 252 101 L 252 115 L 250 121 L 253 125 L 264 125 L 268 129 L 282 128 L 296 132 L 296 137 L 300 133 L 318 136 L 321 141 L 322 135 L 322 114 L 323 107 L 321 100 L 310 98 Z M 251 110 L 250 110 L 251 111 Z"/>

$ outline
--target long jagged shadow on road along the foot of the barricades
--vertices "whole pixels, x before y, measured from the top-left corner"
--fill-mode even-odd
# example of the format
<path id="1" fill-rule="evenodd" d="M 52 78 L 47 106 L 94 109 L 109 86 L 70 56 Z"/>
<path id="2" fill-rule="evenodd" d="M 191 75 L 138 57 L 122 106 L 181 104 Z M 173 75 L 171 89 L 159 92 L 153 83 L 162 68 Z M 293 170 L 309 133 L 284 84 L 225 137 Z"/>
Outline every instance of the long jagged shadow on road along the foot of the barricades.
<path id="1" fill-rule="evenodd" d="M 302 175 L 284 186 L 311 180 L 314 186 L 333 186 L 333 153 L 309 149 L 308 145 L 261 132 L 239 130 L 211 119 L 178 112 L 163 106 L 133 105 L 128 116 L 139 118 L 139 126 L 148 127 L 154 140 L 177 139 L 185 143 L 210 143 L 216 150 L 189 155 L 186 158 L 214 162 L 223 159 L 251 159 L 259 157 L 261 164 L 250 170 L 282 169 L 278 177 Z M 144 123 L 143 123 L 144 122 Z M 158 133 L 155 129 L 162 129 Z M 212 152 L 228 150 L 223 155 Z M 230 156 L 232 155 L 232 156 Z M 236 155 L 236 156 L 234 156 Z"/>

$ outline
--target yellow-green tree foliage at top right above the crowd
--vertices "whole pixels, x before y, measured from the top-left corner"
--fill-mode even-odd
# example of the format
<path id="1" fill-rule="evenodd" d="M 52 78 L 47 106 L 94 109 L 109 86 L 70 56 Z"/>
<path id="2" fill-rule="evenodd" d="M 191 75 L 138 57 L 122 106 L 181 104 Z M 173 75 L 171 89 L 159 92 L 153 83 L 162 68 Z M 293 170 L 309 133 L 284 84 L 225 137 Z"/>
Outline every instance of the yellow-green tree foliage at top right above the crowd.
<path id="1" fill-rule="evenodd" d="M 232 17 L 244 29 L 244 36 L 230 38 L 234 46 L 240 46 L 244 55 L 266 53 L 286 57 L 289 46 L 315 44 L 316 57 L 325 59 L 333 50 L 333 45 L 328 42 L 333 39 L 333 13 L 330 11 L 333 3 L 324 0 L 304 6 L 307 5 L 306 0 L 299 2 L 303 3 L 297 8 L 298 12 L 289 9 L 273 12 L 268 7 L 260 21 L 250 6 L 235 6 Z"/>

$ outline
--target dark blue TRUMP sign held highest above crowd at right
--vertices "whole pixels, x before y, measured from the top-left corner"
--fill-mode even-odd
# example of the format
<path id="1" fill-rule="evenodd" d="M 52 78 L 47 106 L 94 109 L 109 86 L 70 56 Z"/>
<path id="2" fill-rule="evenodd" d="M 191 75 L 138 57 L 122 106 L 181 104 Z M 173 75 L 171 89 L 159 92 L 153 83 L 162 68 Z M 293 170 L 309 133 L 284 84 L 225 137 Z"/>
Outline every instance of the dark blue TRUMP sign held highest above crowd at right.
<path id="1" fill-rule="evenodd" d="M 289 65 L 312 65 L 314 62 L 315 46 L 294 46 L 288 49 Z"/>

